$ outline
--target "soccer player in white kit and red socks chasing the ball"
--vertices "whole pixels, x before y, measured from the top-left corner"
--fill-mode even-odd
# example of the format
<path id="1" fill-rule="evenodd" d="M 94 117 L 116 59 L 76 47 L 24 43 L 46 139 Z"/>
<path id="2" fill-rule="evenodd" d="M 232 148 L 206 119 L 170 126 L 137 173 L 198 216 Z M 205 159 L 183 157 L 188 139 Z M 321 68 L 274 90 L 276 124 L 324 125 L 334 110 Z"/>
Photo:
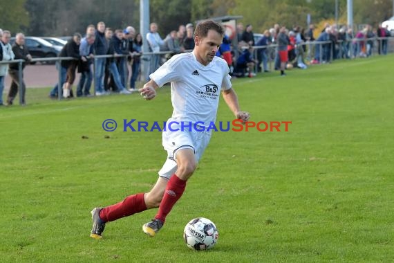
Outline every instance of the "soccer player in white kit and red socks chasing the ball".
<path id="1" fill-rule="evenodd" d="M 91 211 L 91 237 L 102 238 L 106 222 L 159 208 L 156 217 L 142 226 L 149 237 L 156 235 L 165 224 L 173 205 L 182 196 L 187 179 L 196 170 L 209 143 L 211 131 L 204 127 L 207 128 L 209 123 L 216 120 L 220 93 L 236 118 L 244 123 L 249 119 L 249 114 L 239 109 L 227 62 L 215 56 L 222 43 L 223 33 L 221 24 L 214 21 L 198 24 L 194 31 L 196 45 L 193 52 L 171 57 L 149 76 L 151 80 L 140 89 L 141 95 L 151 100 L 156 96 L 156 89 L 171 82 L 173 114 L 167 124 L 173 124 L 171 129 L 167 127 L 162 132 L 167 160 L 158 172 L 156 185 L 149 192 L 133 194 L 120 203 Z M 179 123 L 178 127 L 176 123 Z M 198 129 L 194 129 L 196 123 Z"/>

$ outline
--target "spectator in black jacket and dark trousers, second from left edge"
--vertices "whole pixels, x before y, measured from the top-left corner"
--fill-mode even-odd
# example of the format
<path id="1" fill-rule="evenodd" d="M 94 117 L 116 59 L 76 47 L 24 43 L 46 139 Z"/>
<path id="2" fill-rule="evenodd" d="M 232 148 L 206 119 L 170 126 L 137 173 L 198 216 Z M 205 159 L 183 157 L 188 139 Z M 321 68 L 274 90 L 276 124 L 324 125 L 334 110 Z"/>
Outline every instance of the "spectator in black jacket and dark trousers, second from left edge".
<path id="1" fill-rule="evenodd" d="M 32 60 L 32 56 L 30 55 L 28 48 L 25 46 L 25 35 L 22 33 L 17 33 L 15 36 L 15 44 L 12 46 L 12 52 L 15 54 L 15 60 Z M 22 94 L 22 105 L 26 105 L 25 93 L 26 93 L 26 85 L 24 82 L 24 68 L 26 66 L 26 62 L 22 63 L 22 82 L 19 83 L 19 63 L 10 64 L 10 69 L 8 69 L 8 73 L 12 78 L 10 91 L 8 91 L 7 105 L 12 105 L 13 100 L 17 96 L 18 88 L 19 92 Z"/>

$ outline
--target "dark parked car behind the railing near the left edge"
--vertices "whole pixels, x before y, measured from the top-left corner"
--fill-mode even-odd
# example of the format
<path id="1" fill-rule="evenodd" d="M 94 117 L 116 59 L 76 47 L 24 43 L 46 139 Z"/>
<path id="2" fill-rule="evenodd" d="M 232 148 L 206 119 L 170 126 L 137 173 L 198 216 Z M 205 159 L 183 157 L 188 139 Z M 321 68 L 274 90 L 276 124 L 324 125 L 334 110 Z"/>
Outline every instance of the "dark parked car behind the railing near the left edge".
<path id="1" fill-rule="evenodd" d="M 15 37 L 10 39 L 10 43 L 15 43 Z M 25 44 L 33 58 L 57 57 L 62 50 L 61 46 L 53 46 L 39 37 L 25 37 Z M 32 62 L 35 64 L 35 62 Z M 55 61 L 43 62 L 43 64 L 55 64 Z"/>

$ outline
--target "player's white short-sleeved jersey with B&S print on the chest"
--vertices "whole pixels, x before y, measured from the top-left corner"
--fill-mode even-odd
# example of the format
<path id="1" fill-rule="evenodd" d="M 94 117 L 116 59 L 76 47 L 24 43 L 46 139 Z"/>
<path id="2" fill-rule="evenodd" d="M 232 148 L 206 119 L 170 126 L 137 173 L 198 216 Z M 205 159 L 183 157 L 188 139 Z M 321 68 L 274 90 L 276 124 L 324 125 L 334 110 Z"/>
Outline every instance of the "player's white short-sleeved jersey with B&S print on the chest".
<path id="1" fill-rule="evenodd" d="M 204 66 L 193 52 L 174 55 L 149 77 L 159 87 L 171 82 L 172 120 L 205 127 L 216 120 L 221 90 L 232 87 L 225 60 L 214 57 Z"/>

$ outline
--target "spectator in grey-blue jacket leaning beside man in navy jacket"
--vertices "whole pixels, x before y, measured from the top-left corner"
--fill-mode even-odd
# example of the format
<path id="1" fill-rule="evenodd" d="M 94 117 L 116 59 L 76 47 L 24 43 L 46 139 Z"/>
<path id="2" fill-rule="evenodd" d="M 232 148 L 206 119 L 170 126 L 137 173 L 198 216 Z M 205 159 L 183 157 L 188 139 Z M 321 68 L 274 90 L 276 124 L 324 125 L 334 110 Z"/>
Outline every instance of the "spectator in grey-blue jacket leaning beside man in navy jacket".
<path id="1" fill-rule="evenodd" d="M 93 80 L 91 64 L 93 63 L 92 47 L 94 42 L 95 42 L 94 32 L 93 34 L 87 33 L 86 37 L 84 37 L 81 40 L 81 44 L 79 45 L 79 55 L 81 55 L 82 60 L 79 61 L 79 65 L 78 65 L 78 73 L 81 73 L 81 78 L 79 78 L 79 83 L 77 86 L 77 97 L 91 95 L 90 89 Z"/>

